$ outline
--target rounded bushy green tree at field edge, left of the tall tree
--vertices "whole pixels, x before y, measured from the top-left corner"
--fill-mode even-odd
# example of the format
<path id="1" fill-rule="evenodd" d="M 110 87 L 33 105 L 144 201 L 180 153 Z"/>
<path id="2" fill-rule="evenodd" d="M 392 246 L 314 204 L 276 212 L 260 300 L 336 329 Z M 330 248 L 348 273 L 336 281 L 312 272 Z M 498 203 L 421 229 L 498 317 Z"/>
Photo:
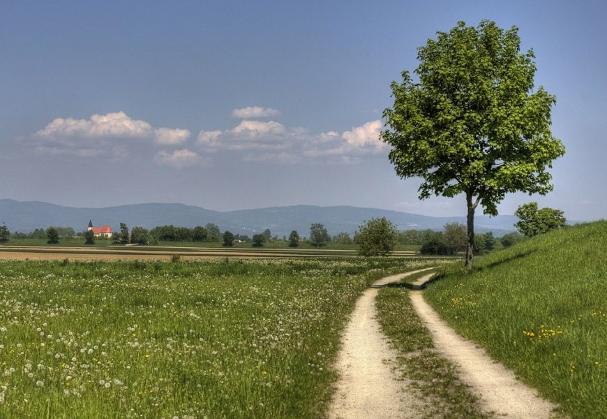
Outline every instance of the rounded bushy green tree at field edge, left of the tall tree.
<path id="1" fill-rule="evenodd" d="M 386 256 L 392 253 L 398 231 L 386 217 L 370 219 L 359 227 L 357 247 L 362 256 Z"/>

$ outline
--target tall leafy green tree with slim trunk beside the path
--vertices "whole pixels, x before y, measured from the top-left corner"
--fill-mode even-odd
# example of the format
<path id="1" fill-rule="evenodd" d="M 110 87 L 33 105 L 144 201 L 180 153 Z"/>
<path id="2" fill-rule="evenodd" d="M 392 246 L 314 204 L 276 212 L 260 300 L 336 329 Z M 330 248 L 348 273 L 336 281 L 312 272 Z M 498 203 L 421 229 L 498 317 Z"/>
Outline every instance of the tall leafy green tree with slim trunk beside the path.
<path id="1" fill-rule="evenodd" d="M 534 54 L 520 52 L 518 29 L 464 22 L 418 49 L 419 66 L 392 82 L 384 110 L 389 160 L 401 178 L 421 177 L 419 198 L 463 193 L 467 207 L 465 267 L 472 269 L 474 210 L 497 215 L 506 193 L 553 189 L 546 166 L 564 154 L 550 132 L 555 96 L 534 91 Z"/>

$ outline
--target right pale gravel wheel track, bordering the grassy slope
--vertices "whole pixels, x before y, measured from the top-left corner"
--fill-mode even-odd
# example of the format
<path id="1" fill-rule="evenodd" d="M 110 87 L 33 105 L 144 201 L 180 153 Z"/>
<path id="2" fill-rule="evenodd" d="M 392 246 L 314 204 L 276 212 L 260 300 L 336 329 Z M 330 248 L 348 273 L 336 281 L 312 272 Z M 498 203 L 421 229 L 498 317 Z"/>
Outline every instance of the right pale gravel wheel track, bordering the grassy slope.
<path id="1" fill-rule="evenodd" d="M 430 277 L 432 274 L 421 277 L 414 285 L 419 289 Z M 460 367 L 460 378 L 479 395 L 481 407 L 506 418 L 553 417 L 554 404 L 518 381 L 513 372 L 491 359 L 484 348 L 457 335 L 424 301 L 421 291 L 411 291 L 410 297 L 417 315 L 432 334 L 436 350 Z"/>

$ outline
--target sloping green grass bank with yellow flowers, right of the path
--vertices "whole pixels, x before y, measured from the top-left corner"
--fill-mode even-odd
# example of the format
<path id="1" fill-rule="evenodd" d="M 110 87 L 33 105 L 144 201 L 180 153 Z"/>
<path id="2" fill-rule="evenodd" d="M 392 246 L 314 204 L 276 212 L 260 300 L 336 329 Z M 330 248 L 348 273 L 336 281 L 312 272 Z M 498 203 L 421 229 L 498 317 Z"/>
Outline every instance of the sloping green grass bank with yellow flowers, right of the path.
<path id="1" fill-rule="evenodd" d="M 607 418 L 607 221 L 444 270 L 424 295 L 465 337 L 574 418 Z"/>

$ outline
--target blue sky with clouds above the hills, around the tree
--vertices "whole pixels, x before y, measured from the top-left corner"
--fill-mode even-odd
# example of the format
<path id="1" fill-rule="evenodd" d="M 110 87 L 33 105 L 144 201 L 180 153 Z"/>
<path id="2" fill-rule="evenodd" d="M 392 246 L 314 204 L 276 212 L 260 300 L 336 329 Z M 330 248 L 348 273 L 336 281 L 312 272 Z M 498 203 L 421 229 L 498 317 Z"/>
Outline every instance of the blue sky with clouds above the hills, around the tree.
<path id="1" fill-rule="evenodd" d="M 465 215 L 417 198 L 378 135 L 390 84 L 460 20 L 516 25 L 557 98 L 546 196 L 607 218 L 602 1 L 15 1 L 0 13 L 0 198 L 209 210 L 355 205 Z"/>

